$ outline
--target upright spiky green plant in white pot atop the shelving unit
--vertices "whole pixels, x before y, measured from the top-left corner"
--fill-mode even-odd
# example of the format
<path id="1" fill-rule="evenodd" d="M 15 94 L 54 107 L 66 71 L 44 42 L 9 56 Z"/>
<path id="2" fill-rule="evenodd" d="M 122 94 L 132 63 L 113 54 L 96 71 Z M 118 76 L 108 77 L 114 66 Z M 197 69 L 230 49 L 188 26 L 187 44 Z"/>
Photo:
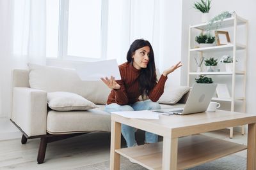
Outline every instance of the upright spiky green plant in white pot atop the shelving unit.
<path id="1" fill-rule="evenodd" d="M 202 12 L 202 22 L 208 22 L 209 21 L 209 11 L 211 9 L 211 0 L 200 0 L 198 2 L 195 2 L 193 5 L 193 8 L 195 8 L 197 11 Z"/>

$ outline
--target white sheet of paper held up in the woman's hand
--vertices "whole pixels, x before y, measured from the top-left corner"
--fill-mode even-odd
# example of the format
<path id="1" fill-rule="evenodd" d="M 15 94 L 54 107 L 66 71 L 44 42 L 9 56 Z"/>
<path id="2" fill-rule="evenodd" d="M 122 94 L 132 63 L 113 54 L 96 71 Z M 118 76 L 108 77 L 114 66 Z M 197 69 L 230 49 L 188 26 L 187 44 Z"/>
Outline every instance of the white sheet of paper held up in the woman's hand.
<path id="1" fill-rule="evenodd" d="M 110 76 L 115 80 L 120 80 L 120 72 L 116 60 L 102 60 L 97 62 L 87 62 L 76 67 L 77 74 L 83 81 L 97 81 L 100 78 Z"/>

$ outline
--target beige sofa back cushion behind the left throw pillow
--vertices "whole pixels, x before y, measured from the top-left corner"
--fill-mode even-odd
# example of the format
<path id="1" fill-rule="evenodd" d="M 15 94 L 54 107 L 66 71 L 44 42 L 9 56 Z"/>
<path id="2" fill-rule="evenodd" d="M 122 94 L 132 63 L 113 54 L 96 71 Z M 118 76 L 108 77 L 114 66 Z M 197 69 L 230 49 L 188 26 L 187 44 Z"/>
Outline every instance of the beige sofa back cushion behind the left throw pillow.
<path id="1" fill-rule="evenodd" d="M 72 92 L 95 104 L 106 104 L 110 89 L 101 81 L 82 81 L 75 69 L 28 64 L 29 85 L 46 92 Z"/>

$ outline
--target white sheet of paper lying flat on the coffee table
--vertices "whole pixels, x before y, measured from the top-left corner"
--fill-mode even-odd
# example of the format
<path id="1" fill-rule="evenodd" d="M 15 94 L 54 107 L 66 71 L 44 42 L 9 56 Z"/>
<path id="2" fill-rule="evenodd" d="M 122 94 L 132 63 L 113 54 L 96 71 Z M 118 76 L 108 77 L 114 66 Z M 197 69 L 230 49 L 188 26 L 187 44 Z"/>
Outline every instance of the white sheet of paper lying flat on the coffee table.
<path id="1" fill-rule="evenodd" d="M 140 111 L 114 111 L 116 115 L 120 115 L 126 118 L 147 118 L 147 119 L 159 119 L 159 115 L 149 110 Z"/>

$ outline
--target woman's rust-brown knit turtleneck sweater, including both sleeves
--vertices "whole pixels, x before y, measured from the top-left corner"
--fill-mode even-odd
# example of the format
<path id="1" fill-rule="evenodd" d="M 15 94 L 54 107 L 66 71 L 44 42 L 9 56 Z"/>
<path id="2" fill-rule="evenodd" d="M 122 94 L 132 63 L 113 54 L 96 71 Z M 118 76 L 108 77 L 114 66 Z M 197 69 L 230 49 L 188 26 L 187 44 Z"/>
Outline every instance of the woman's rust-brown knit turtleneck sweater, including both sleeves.
<path id="1" fill-rule="evenodd" d="M 108 96 L 107 104 L 116 103 L 120 105 L 133 104 L 139 101 L 140 90 L 139 90 L 139 75 L 140 70 L 136 69 L 131 63 L 125 62 L 119 66 L 122 80 L 116 80 L 121 88 L 118 90 L 111 90 Z M 164 84 L 167 80 L 167 76 L 161 75 L 158 83 L 156 83 L 154 89 L 149 92 L 149 99 L 151 101 L 158 101 L 159 97 L 164 92 Z"/>

